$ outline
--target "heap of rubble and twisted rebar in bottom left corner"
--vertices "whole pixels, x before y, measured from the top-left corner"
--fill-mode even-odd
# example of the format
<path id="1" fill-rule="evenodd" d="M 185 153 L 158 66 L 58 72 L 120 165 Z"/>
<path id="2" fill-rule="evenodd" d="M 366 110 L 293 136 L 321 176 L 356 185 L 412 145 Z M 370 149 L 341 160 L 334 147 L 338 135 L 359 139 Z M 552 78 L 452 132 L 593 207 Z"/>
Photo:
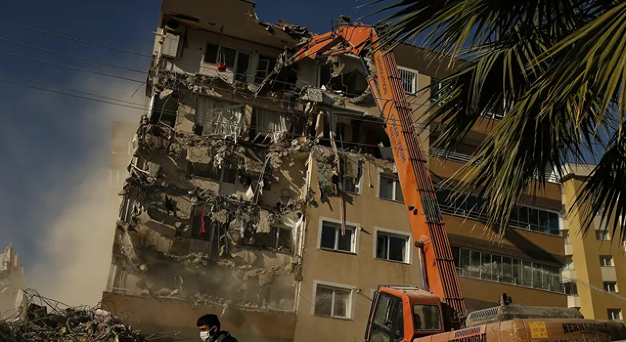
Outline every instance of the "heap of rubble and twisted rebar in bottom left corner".
<path id="1" fill-rule="evenodd" d="M 38 294 L 29 294 L 18 318 L 0 321 L 3 342 L 143 342 L 130 326 L 108 311 L 65 307 Z M 40 304 L 34 303 L 39 301 Z"/>

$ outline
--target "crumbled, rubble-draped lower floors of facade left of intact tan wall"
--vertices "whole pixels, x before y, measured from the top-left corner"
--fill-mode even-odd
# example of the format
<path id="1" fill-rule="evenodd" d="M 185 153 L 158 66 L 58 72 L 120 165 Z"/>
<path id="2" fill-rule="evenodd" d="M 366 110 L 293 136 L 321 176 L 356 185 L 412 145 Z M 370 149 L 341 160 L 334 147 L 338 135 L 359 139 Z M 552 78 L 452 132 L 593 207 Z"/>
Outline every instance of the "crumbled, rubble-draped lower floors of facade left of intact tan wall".
<path id="1" fill-rule="evenodd" d="M 136 163 L 120 193 L 126 212 L 117 239 L 126 293 L 292 310 L 292 236 L 277 249 L 261 240 L 272 227 L 293 228 L 298 221 L 305 171 L 294 160 L 305 159 L 309 144 L 294 140 L 259 149 L 147 119 L 134 141 Z M 220 193 L 218 179 L 195 175 L 225 163 L 237 174 L 230 194 Z M 269 189 L 257 179 L 271 183 Z M 198 227 L 202 221 L 206 233 Z"/>

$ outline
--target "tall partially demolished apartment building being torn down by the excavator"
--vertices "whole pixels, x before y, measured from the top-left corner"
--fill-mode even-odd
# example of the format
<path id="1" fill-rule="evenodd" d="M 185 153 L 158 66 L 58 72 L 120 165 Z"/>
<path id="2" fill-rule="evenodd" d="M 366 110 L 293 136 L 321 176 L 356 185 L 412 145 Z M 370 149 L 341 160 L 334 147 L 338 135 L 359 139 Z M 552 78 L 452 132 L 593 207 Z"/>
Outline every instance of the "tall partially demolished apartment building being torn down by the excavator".
<path id="1" fill-rule="evenodd" d="M 146 334 L 195 338 L 195 319 L 212 312 L 239 341 L 353 341 L 378 284 L 420 283 L 389 138 L 361 61 L 303 61 L 259 89 L 285 48 L 311 36 L 260 21 L 251 1 L 163 0 L 146 88 L 151 110 L 132 139 L 119 193 L 106 309 Z M 413 103 L 428 98 L 418 88 L 448 65 L 405 44 L 396 59 Z M 466 153 L 486 129 L 470 134 Z M 425 148 L 436 134 L 424 129 Z M 436 181 L 458 169 L 450 155 L 438 154 Z M 563 254 L 562 241 L 530 228 L 516 234 L 530 241 L 525 249 L 508 240 L 476 244 L 485 239 L 468 227 L 480 218 L 463 219 L 448 224 L 456 253 L 473 244 L 509 263 L 510 253 Z M 561 239 L 558 228 L 552 238 Z M 554 260 L 545 269 L 558 271 Z M 485 285 L 469 278 L 476 277 L 461 284 L 471 297 Z M 511 282 L 489 279 L 500 288 L 476 291 L 476 308 L 502 292 L 567 301 L 558 291 L 511 291 Z"/>

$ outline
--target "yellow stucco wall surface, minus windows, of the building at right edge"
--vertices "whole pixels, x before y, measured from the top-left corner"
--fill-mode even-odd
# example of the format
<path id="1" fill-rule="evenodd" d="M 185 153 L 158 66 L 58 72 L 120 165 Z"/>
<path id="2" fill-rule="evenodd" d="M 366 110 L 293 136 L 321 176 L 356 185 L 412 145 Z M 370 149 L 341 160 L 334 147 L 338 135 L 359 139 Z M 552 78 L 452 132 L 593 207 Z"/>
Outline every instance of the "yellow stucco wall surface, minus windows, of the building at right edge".
<path id="1" fill-rule="evenodd" d="M 577 189 L 583 184 L 583 177 L 567 178 L 564 182 L 563 198 L 567 208 L 572 206 Z M 576 209 L 575 209 L 576 210 Z M 626 291 L 626 256 L 624 246 L 619 241 L 597 241 L 595 231 L 583 234 L 582 218 L 575 213 L 568 214 L 570 241 L 573 249 L 573 261 L 576 271 L 578 296 L 580 296 L 580 312 L 585 318 L 607 319 L 608 308 L 621 308 L 626 314 L 626 299 L 620 298 Z M 593 226 L 591 229 L 597 229 Z M 617 296 L 604 293 L 600 255 L 612 255 L 617 274 Z M 610 267 L 610 266 L 609 266 Z M 597 289 L 592 289 L 590 286 Z"/>

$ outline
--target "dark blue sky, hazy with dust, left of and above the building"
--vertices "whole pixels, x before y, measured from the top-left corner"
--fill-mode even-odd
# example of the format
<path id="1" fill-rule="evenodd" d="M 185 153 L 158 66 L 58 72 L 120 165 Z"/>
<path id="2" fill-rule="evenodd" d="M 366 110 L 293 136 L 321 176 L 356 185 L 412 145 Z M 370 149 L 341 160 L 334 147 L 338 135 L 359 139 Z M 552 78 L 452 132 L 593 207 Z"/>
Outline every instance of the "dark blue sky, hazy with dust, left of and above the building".
<path id="1" fill-rule="evenodd" d="M 227 1 L 227 0 L 225 0 Z M 232 0 L 230 0 L 232 1 Z M 263 21 L 284 19 L 316 33 L 339 14 L 358 18 L 359 0 L 258 1 Z M 160 1 L 1 1 L 0 21 L 150 54 Z M 374 19 L 364 20 L 371 23 Z M 0 24 L 0 38 L 146 71 L 150 60 Z M 127 78 L 106 68 L 0 41 L 0 52 L 70 64 Z M 140 84 L 6 56 L 0 79 L 59 86 L 142 103 Z M 7 73 L 19 76 L 8 76 Z M 39 85 L 41 86 L 41 85 Z M 59 89 L 65 91 L 63 89 Z M 88 303 L 104 288 L 113 223 L 103 209 L 111 122 L 136 122 L 138 111 L 0 82 L 0 248 L 12 243 L 29 286 L 71 304 Z M 78 291 L 81 289 L 81 291 Z M 93 304 L 93 303 L 90 303 Z"/>

